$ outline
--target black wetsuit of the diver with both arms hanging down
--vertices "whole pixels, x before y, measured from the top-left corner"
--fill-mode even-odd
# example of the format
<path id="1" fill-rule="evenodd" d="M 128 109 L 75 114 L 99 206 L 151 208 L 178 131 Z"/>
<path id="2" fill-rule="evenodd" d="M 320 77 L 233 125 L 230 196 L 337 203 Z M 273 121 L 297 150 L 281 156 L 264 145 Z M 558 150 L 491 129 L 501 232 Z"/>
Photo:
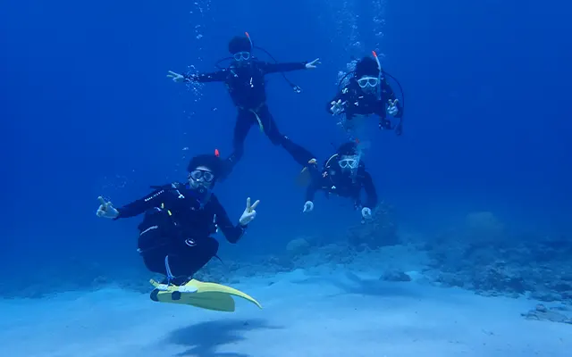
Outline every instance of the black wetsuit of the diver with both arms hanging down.
<path id="1" fill-rule="evenodd" d="M 362 188 L 366 191 L 366 204 L 361 201 Z M 317 169 L 312 170 L 312 181 L 306 190 L 306 201 L 314 201 L 314 195 L 318 190 L 323 190 L 326 197 L 339 195 L 352 198 L 356 209 L 367 207 L 373 210 L 377 205 L 374 181 L 366 171 L 365 165 L 360 162 L 356 176 L 351 178 L 341 170 L 337 155 L 333 155 L 324 164 L 324 169 L 321 172 Z"/>

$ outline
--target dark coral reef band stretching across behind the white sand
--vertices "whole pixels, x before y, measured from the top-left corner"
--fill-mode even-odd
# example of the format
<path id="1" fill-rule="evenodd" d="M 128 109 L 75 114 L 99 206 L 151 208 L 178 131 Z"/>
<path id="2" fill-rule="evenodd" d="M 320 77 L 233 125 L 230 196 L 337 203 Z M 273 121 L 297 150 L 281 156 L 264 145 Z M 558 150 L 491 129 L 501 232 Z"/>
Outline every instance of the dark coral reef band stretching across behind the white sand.
<path id="1" fill-rule="evenodd" d="M 46 266 L 31 277 L 0 282 L 0 295 L 39 298 L 109 285 L 147 293 L 150 274 L 143 264 L 125 264 L 129 268 L 112 270 L 71 259 Z M 374 212 L 373 220 L 349 228 L 337 241 L 326 244 L 319 237 L 295 237 L 282 253 L 240 262 L 212 260 L 195 278 L 231 284 L 240 278 L 273 277 L 296 269 L 317 272 L 318 267 L 328 266 L 377 271 L 386 281 L 423 281 L 459 286 L 479 295 L 524 295 L 543 302 L 572 303 L 572 239 L 511 237 L 492 212 L 470 213 L 460 228 L 418 239 L 399 234 L 387 205 Z M 528 318 L 557 319 L 553 311 L 541 310 L 529 312 Z"/>

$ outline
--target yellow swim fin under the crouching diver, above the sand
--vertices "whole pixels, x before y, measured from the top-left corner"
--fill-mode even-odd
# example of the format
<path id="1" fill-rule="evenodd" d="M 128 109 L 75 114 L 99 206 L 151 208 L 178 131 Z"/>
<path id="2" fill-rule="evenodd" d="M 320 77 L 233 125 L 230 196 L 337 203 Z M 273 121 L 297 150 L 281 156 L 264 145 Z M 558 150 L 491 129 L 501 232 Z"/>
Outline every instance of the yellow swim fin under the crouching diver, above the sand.
<path id="1" fill-rule="evenodd" d="M 153 279 L 150 283 L 155 286 L 151 292 L 151 300 L 159 303 L 181 303 L 207 310 L 232 312 L 235 310 L 232 295 L 235 295 L 262 309 L 260 303 L 254 298 L 230 286 L 203 283 L 196 279 L 190 280 L 184 286 L 164 286 Z"/>

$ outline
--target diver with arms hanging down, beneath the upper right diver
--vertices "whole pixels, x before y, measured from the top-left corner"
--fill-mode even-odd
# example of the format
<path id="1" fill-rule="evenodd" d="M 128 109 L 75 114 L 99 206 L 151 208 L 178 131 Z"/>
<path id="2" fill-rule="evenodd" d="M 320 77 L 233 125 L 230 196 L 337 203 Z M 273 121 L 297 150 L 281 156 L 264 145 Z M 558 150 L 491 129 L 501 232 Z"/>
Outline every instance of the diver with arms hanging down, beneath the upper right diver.
<path id="1" fill-rule="evenodd" d="M 362 218 L 364 220 L 371 218 L 372 209 L 377 204 L 377 193 L 372 177 L 361 160 L 361 153 L 356 143 L 349 142 L 341 145 L 336 154 L 324 163 L 321 171 L 316 165 L 308 166 L 308 171 L 311 181 L 307 187 L 303 212 L 314 210 L 314 195 L 318 190 L 323 190 L 326 197 L 339 195 L 353 198 L 354 207 L 356 210 L 361 210 Z M 365 205 L 361 202 L 362 188 L 367 195 Z"/>

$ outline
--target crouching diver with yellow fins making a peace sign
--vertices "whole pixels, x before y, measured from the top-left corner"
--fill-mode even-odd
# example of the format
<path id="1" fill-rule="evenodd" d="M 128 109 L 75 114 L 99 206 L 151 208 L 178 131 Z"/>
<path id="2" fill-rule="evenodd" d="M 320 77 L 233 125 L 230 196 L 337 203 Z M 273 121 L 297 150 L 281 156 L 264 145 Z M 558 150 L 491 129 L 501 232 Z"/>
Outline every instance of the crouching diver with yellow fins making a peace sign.
<path id="1" fill-rule="evenodd" d="M 218 155 L 195 156 L 188 170 L 188 183 L 152 187 L 155 190 L 149 195 L 119 208 L 100 196 L 97 217 L 119 220 L 145 213 L 138 227 L 138 253 L 148 270 L 166 277 L 161 283 L 151 280 L 155 287 L 152 300 L 234 311 L 231 296 L 235 295 L 260 307 L 256 300 L 236 289 L 192 278 L 218 252 L 219 243 L 212 235 L 220 229 L 229 242 L 237 243 L 248 223 L 255 219 L 260 201 L 250 204 L 248 197 L 247 207 L 234 225 L 212 192 L 223 172 Z"/>

